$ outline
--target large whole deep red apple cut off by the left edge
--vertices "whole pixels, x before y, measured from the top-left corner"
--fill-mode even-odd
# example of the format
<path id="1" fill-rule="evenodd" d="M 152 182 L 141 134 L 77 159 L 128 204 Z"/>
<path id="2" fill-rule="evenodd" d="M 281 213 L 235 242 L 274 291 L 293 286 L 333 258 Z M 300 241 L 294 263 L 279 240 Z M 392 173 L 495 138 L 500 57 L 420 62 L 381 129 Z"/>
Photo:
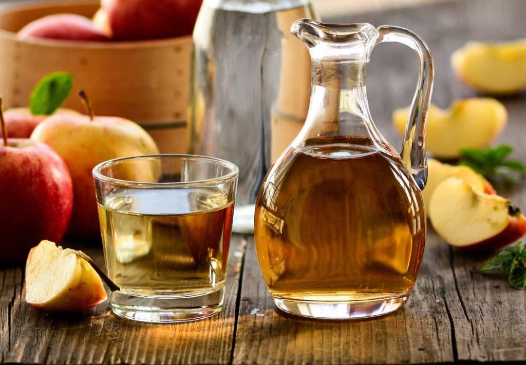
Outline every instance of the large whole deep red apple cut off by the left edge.
<path id="1" fill-rule="evenodd" d="M 0 265 L 23 264 L 43 239 L 59 242 L 72 207 L 72 180 L 55 151 L 31 139 L 0 142 Z"/>

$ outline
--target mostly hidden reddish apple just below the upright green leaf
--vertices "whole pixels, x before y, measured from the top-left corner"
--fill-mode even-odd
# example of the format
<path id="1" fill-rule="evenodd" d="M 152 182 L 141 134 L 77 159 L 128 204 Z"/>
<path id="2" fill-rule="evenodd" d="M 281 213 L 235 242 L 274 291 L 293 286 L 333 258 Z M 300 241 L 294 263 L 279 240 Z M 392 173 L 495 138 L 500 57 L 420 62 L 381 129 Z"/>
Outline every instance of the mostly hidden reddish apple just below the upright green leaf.
<path id="1" fill-rule="evenodd" d="M 80 114 L 73 109 L 57 109 L 54 114 Z M 4 111 L 7 135 L 11 138 L 29 138 L 33 129 L 49 115 L 31 114 L 29 108 L 11 108 Z M 2 130 L 0 130 L 2 137 Z"/>

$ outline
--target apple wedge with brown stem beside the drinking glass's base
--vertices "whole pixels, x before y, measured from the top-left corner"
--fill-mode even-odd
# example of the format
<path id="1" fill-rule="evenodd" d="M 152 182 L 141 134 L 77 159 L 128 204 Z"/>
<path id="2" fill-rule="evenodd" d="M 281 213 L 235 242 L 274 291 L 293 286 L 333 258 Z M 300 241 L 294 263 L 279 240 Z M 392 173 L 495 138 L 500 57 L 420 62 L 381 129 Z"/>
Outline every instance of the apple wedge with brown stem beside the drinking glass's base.
<path id="1" fill-rule="evenodd" d="M 93 265 L 83 252 L 41 241 L 27 257 L 26 302 L 50 312 L 75 312 L 95 307 L 107 296 L 97 273 L 102 272 Z M 104 273 L 102 275 L 111 290 L 119 290 Z"/>

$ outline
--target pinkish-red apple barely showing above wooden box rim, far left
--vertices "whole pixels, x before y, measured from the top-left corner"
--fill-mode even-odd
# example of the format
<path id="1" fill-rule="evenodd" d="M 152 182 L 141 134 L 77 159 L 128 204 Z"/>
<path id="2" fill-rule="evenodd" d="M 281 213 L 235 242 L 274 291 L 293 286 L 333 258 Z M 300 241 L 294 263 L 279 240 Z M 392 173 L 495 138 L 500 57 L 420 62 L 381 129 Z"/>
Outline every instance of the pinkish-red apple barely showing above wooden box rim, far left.
<path id="1" fill-rule="evenodd" d="M 31 37 L 104 42 L 108 37 L 91 19 L 77 14 L 53 14 L 24 26 L 18 38 Z"/>

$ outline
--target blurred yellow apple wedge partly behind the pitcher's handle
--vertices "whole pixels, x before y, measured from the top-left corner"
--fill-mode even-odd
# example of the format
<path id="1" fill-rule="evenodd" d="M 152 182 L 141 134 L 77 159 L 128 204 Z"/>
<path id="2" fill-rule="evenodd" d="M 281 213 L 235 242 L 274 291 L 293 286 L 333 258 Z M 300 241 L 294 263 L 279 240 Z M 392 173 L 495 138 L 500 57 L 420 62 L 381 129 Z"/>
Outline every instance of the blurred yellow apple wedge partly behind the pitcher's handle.
<path id="1" fill-rule="evenodd" d="M 401 135 L 406 129 L 409 108 L 397 109 L 392 119 Z M 504 105 L 492 98 L 455 100 L 449 109 L 431 105 L 426 148 L 438 158 L 457 158 L 459 149 L 482 148 L 490 144 L 508 120 Z"/>

